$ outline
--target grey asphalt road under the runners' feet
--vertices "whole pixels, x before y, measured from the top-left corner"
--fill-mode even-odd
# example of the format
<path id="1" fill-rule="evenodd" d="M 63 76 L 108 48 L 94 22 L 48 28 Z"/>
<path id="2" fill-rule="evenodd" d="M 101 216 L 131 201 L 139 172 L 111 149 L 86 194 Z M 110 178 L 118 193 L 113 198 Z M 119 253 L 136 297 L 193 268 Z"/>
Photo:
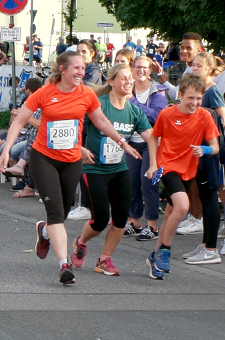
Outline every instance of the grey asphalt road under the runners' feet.
<path id="1" fill-rule="evenodd" d="M 182 259 L 201 235 L 175 236 L 171 274 L 158 281 L 145 264 L 156 241 L 134 237 L 122 239 L 114 253 L 119 277 L 94 272 L 103 233 L 89 242 L 76 284 L 63 286 L 53 250 L 45 260 L 34 252 L 34 225 L 45 219 L 39 197 L 12 198 L 10 187 L 0 184 L 0 340 L 225 338 L 225 256 L 221 264 L 198 266 Z M 82 227 L 83 221 L 66 221 L 69 253 Z"/>

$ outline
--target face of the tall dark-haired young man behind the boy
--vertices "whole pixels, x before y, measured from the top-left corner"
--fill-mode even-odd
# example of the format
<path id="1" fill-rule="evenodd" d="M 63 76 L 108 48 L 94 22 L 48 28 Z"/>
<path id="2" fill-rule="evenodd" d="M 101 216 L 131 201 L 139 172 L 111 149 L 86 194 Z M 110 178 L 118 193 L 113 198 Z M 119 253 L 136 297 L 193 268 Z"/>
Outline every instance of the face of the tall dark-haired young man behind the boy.
<path id="1" fill-rule="evenodd" d="M 180 46 L 180 60 L 185 61 L 188 66 L 192 65 L 194 57 L 201 51 L 198 40 L 184 39 Z"/>

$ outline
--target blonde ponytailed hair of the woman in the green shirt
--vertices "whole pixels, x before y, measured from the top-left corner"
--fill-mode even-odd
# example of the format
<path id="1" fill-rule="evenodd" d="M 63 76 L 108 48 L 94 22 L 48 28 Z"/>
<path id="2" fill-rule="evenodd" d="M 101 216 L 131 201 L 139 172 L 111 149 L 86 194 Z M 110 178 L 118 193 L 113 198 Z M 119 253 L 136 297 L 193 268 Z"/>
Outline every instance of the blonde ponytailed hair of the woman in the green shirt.
<path id="1" fill-rule="evenodd" d="M 108 71 L 107 81 L 114 80 L 119 73 L 120 70 L 129 70 L 131 72 L 130 66 L 126 64 L 116 64 L 111 67 Z M 109 85 L 109 82 L 105 85 L 95 85 L 95 84 L 88 84 L 93 91 L 96 93 L 98 97 L 104 96 L 104 94 L 109 93 L 112 90 L 112 86 Z"/>

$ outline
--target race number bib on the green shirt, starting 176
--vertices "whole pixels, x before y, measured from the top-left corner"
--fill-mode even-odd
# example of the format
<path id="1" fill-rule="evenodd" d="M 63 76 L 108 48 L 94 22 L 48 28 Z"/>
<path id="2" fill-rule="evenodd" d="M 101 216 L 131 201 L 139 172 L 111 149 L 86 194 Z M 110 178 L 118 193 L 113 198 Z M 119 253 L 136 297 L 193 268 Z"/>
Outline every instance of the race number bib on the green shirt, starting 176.
<path id="1" fill-rule="evenodd" d="M 100 162 L 102 164 L 120 163 L 123 158 L 123 149 L 110 137 L 101 137 Z"/>

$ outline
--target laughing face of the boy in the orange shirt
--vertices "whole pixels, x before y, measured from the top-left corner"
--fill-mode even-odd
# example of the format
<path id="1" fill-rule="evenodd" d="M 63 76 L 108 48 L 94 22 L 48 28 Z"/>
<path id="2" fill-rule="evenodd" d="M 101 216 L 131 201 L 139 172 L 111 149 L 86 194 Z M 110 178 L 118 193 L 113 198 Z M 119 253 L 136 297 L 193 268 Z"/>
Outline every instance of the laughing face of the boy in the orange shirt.
<path id="1" fill-rule="evenodd" d="M 188 87 L 186 91 L 182 94 L 179 93 L 179 98 L 181 103 L 178 105 L 179 110 L 185 114 L 193 114 L 199 106 L 202 104 L 201 92 L 197 92 L 195 88 Z"/>

